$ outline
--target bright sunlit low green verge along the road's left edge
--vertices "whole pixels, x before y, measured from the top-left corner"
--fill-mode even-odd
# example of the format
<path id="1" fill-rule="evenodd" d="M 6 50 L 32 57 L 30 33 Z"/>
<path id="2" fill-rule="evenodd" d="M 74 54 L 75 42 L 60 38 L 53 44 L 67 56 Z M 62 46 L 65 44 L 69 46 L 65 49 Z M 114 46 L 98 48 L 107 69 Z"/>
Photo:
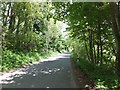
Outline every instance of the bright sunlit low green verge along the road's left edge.
<path id="1" fill-rule="evenodd" d="M 2 51 L 2 65 L 0 71 L 9 71 L 20 68 L 24 65 L 29 65 L 35 61 L 40 61 L 44 58 L 57 54 L 57 52 L 49 51 L 45 53 L 40 52 L 13 52 L 11 50 Z"/>

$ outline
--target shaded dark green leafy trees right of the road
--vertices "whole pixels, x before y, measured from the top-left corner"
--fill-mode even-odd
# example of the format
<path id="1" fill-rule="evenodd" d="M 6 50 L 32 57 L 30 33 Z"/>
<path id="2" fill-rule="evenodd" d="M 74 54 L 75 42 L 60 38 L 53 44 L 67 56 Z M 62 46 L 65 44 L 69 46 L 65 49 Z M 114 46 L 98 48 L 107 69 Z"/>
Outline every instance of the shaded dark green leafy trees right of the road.
<path id="1" fill-rule="evenodd" d="M 119 7 L 116 3 L 112 4 L 116 6 L 116 9 L 117 6 Z M 113 67 L 111 69 L 114 72 L 116 72 L 115 65 L 117 65 L 119 73 L 120 38 L 117 33 L 117 39 L 113 34 L 113 31 L 117 31 L 117 25 L 115 25 L 114 30 L 111 22 L 116 22 L 115 18 L 117 18 L 117 16 L 113 15 L 113 17 L 116 16 L 113 21 L 110 13 L 114 12 L 114 9 L 110 8 L 110 3 L 73 2 L 70 4 L 69 2 L 60 2 L 53 3 L 53 8 L 55 9 L 53 17 L 57 20 L 66 21 L 69 26 L 67 31 L 69 32 L 69 37 L 72 39 L 71 46 L 73 48 L 72 53 L 74 58 L 82 58 L 87 60 L 85 61 L 86 63 L 89 62 L 98 67 Z M 116 14 L 117 12 L 118 10 L 116 10 Z M 119 21 L 117 22 L 119 23 Z M 117 45 L 115 41 L 117 41 Z M 116 58 L 118 60 L 116 60 Z M 79 62 L 79 60 L 77 61 Z M 92 67 L 92 65 L 87 64 L 86 66 Z M 90 68 L 90 70 L 88 69 L 88 71 L 92 69 L 94 69 L 94 67 Z"/>

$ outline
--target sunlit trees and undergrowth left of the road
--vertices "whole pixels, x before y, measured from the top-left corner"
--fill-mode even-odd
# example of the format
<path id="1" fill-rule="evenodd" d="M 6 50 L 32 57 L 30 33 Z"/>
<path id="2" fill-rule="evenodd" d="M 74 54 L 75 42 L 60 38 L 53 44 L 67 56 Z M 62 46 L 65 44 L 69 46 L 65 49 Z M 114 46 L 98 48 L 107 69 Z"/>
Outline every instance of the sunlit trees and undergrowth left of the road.
<path id="1" fill-rule="evenodd" d="M 2 2 L 2 66 L 7 71 L 64 49 L 61 23 L 51 18 L 51 3 Z M 59 46 L 59 47 L 58 47 Z"/>

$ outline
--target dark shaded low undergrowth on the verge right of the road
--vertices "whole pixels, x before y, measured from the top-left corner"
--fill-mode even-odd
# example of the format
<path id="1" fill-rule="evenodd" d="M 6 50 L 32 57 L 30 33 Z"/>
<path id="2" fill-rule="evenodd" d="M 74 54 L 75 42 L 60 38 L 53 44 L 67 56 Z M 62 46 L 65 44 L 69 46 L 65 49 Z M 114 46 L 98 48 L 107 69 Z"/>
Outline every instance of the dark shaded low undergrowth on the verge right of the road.
<path id="1" fill-rule="evenodd" d="M 92 80 L 101 90 L 118 90 L 120 88 L 120 78 L 115 73 L 115 68 L 107 65 L 97 66 L 83 58 L 76 58 L 72 55 L 73 59 L 79 65 L 81 70 Z"/>

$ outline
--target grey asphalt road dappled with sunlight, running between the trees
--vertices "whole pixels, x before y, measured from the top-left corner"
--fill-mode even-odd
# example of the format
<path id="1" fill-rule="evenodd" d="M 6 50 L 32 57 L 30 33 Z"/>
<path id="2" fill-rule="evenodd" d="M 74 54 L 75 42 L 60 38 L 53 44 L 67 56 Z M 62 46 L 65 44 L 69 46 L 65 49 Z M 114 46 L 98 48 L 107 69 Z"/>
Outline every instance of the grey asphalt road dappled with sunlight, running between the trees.
<path id="1" fill-rule="evenodd" d="M 77 88 L 69 54 L 59 54 L 2 79 L 3 88 Z"/>

